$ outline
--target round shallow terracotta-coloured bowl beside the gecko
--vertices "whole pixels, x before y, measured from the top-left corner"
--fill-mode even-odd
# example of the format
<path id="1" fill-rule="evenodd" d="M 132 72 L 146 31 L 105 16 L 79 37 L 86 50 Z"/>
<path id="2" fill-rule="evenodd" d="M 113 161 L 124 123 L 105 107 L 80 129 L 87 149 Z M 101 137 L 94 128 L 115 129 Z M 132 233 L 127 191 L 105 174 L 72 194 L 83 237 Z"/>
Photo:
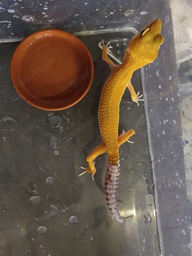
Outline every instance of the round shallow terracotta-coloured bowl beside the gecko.
<path id="1" fill-rule="evenodd" d="M 11 77 L 22 99 L 45 110 L 69 108 L 88 92 L 93 61 L 76 36 L 58 29 L 38 31 L 15 50 Z"/>

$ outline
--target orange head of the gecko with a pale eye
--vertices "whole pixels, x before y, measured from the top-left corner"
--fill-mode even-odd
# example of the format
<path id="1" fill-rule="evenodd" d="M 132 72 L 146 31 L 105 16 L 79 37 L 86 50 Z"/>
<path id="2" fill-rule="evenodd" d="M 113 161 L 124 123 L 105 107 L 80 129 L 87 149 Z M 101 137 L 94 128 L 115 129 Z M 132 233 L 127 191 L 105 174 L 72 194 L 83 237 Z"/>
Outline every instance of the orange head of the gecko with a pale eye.
<path id="1" fill-rule="evenodd" d="M 154 61 L 164 41 L 161 35 L 161 25 L 161 20 L 156 19 L 133 36 L 125 49 L 125 58 L 127 56 L 133 59 L 140 67 Z"/>

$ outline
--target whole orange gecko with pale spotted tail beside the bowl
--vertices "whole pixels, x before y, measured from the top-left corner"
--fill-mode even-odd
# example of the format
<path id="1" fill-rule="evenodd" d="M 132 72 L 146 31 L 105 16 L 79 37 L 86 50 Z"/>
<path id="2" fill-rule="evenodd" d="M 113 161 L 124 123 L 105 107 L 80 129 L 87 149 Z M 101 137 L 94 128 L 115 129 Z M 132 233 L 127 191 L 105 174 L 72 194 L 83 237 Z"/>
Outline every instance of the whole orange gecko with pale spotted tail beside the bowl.
<path id="1" fill-rule="evenodd" d="M 131 77 L 135 70 L 152 63 L 156 59 L 159 47 L 164 40 L 161 35 L 161 24 L 161 20 L 156 19 L 133 36 L 125 49 L 124 61 L 120 65 L 115 65 L 108 58 L 111 46 L 109 44 L 104 45 L 104 42 L 99 44 L 102 47 L 102 60 L 109 64 L 111 74 L 104 84 L 99 102 L 98 116 L 102 143 L 87 157 L 88 168 L 84 168 L 83 173 L 90 172 L 93 177 L 96 172 L 94 159 L 104 152 L 108 153 L 108 170 L 105 177 L 104 191 L 109 211 L 119 222 L 124 222 L 124 218 L 120 216 L 118 211 L 116 200 L 118 175 L 120 174 L 119 147 L 134 134 L 134 130 L 130 130 L 118 137 L 120 100 L 125 88 L 128 87 L 132 100 L 138 103 L 139 97 L 131 84 Z"/>

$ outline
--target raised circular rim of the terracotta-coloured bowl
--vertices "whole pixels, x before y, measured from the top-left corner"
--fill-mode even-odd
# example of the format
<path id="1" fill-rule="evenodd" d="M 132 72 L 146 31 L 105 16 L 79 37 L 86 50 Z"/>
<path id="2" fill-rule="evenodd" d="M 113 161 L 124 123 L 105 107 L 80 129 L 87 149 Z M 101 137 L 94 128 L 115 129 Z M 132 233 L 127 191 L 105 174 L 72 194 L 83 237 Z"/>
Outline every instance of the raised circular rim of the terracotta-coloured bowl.
<path id="1" fill-rule="evenodd" d="M 23 93 L 22 90 L 20 90 L 19 84 L 15 81 L 14 67 L 15 67 L 15 65 L 18 65 L 18 63 L 15 64 L 15 59 L 17 60 L 17 56 L 18 56 L 19 52 L 26 51 L 26 45 L 30 45 L 31 42 L 34 42 L 35 40 L 37 40 L 38 35 L 39 35 L 39 39 L 44 38 L 44 35 L 46 33 L 51 34 L 52 36 L 60 36 L 61 38 L 67 38 L 69 42 L 73 41 L 73 42 L 75 42 L 75 44 L 79 44 L 81 47 L 83 47 L 84 51 L 86 52 L 87 60 L 90 61 L 90 81 L 86 86 L 86 90 L 84 90 L 84 92 L 81 93 L 81 96 L 79 96 L 76 100 L 74 100 L 74 102 L 67 104 L 67 106 L 63 106 L 63 107 L 61 106 L 61 107 L 55 107 L 55 108 L 40 106 L 40 105 L 36 104 L 35 102 L 33 102 L 33 100 L 28 99 L 28 97 L 26 97 L 25 93 Z M 25 56 L 25 54 L 24 54 L 24 56 Z M 20 59 L 20 61 L 22 61 L 22 59 Z M 84 45 L 83 42 L 81 42 L 81 40 L 79 40 L 79 38 L 77 38 L 75 35 L 68 33 L 67 31 L 63 31 L 61 29 L 42 29 L 40 31 L 36 31 L 35 33 L 32 33 L 31 35 L 28 35 L 26 38 L 24 38 L 24 40 L 22 40 L 20 42 L 20 44 L 17 46 L 17 48 L 13 52 L 12 60 L 10 63 L 10 76 L 11 76 L 12 83 L 13 83 L 13 86 L 14 86 L 16 92 L 20 95 L 20 97 L 22 99 L 24 99 L 26 102 L 28 102 L 28 104 L 30 104 L 31 106 L 34 106 L 35 108 L 38 108 L 38 109 L 47 110 L 47 111 L 63 110 L 63 109 L 70 108 L 71 106 L 74 106 L 75 104 L 77 104 L 77 102 L 79 102 L 81 99 L 83 99 L 83 97 L 86 95 L 86 93 L 90 90 L 90 87 L 92 86 L 92 82 L 93 82 L 93 74 L 94 74 L 93 59 L 92 59 L 90 51 L 88 51 L 88 48 L 86 47 L 86 45 Z"/>

